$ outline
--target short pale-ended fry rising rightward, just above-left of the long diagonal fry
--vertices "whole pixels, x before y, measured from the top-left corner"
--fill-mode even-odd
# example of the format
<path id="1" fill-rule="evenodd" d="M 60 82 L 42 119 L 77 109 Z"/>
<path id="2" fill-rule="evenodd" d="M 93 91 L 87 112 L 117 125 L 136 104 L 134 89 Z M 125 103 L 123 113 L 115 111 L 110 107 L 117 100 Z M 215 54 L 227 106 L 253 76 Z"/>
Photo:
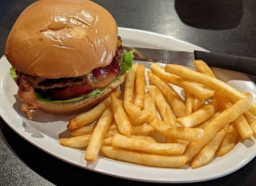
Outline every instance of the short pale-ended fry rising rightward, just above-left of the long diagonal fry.
<path id="1" fill-rule="evenodd" d="M 195 111 L 195 113 L 180 117 L 176 121 L 181 126 L 196 126 L 198 124 L 201 124 L 202 122 L 207 121 L 216 112 L 216 110 L 217 104 L 212 102 L 201 107 L 200 109 Z"/>

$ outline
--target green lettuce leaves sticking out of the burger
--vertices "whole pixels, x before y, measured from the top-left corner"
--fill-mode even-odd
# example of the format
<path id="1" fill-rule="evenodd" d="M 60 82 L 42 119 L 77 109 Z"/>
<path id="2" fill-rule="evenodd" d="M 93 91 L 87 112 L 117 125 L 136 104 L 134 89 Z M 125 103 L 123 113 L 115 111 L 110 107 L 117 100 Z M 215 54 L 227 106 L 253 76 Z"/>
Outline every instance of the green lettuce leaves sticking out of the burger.
<path id="1" fill-rule="evenodd" d="M 125 73 L 126 71 L 131 70 L 132 60 L 133 60 L 132 53 L 133 53 L 133 51 L 129 51 L 129 52 L 125 51 L 124 52 L 123 61 L 120 65 L 120 72 L 121 73 Z M 10 76 L 12 77 L 12 79 L 15 82 L 17 82 L 17 74 L 16 74 L 15 69 L 13 67 L 10 68 Z M 116 77 L 115 77 L 114 82 L 117 80 L 118 77 L 119 77 L 119 75 L 117 74 Z M 85 94 L 83 96 L 80 96 L 80 97 L 77 97 L 77 98 L 74 98 L 74 99 L 54 100 L 49 91 L 42 90 L 42 89 L 34 89 L 34 96 L 35 96 L 36 100 L 41 100 L 41 101 L 45 101 L 45 102 L 74 102 L 74 101 L 83 100 L 83 99 L 88 98 L 88 97 L 94 97 L 98 94 L 101 94 L 102 91 L 104 91 L 104 89 L 95 89 L 95 90 L 92 90 L 88 94 Z"/>

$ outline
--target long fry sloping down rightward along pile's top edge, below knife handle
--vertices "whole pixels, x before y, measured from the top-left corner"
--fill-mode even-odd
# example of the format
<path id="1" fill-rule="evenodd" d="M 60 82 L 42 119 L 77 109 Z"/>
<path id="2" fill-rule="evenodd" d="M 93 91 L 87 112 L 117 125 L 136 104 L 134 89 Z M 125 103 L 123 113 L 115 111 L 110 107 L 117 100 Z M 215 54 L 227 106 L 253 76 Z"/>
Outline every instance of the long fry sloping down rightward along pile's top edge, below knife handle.
<path id="1" fill-rule="evenodd" d="M 166 65 L 165 70 L 168 73 L 173 73 L 176 75 L 180 75 L 183 78 L 186 78 L 191 81 L 195 81 L 196 83 L 202 84 L 204 86 L 208 86 L 212 88 L 212 90 L 219 91 L 222 95 L 233 102 L 241 99 L 247 99 L 248 97 L 242 94 L 240 91 L 236 90 L 233 86 L 229 86 L 222 82 L 221 80 L 215 79 L 214 77 L 210 77 L 209 75 L 198 73 L 193 70 L 190 70 L 186 67 L 182 67 L 181 65 L 168 64 Z M 256 104 L 251 102 L 251 108 L 249 110 L 254 116 L 256 116 Z"/>

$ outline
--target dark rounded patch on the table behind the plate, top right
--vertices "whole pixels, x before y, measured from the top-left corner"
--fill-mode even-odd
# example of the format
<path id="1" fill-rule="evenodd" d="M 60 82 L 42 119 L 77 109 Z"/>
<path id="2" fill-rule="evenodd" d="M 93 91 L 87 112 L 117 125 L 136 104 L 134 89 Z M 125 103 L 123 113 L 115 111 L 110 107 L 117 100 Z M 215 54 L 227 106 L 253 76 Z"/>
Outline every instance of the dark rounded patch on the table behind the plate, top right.
<path id="1" fill-rule="evenodd" d="M 174 6 L 183 23 L 200 29 L 232 29 L 243 16 L 241 0 L 176 0 Z"/>

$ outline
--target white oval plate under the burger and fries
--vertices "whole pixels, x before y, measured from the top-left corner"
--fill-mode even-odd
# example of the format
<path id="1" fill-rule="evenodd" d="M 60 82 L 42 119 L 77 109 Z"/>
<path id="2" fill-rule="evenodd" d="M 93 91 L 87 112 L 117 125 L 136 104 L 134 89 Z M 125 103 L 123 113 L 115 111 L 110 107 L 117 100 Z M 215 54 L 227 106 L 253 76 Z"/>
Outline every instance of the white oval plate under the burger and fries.
<path id="1" fill-rule="evenodd" d="M 125 46 L 144 46 L 184 51 L 204 50 L 201 47 L 156 33 L 119 28 L 119 34 Z M 20 113 L 20 103 L 16 101 L 18 87 L 9 76 L 10 64 L 5 57 L 1 58 L 0 64 L 0 114 L 7 122 L 7 125 L 22 138 L 34 144 L 34 146 L 74 166 L 81 166 L 124 179 L 150 182 L 195 182 L 216 179 L 230 174 L 248 164 L 256 154 L 255 140 L 251 139 L 240 141 L 231 153 L 214 159 L 208 166 L 197 169 L 190 167 L 169 169 L 138 166 L 102 156 L 98 158 L 96 163 L 88 164 L 84 160 L 84 151 L 63 147 L 59 143 L 59 137 L 65 135 L 66 126 L 72 115 L 53 115 L 38 110 L 34 119 L 28 121 L 24 114 Z M 255 85 L 249 81 L 245 74 L 220 69 L 214 69 L 214 72 L 232 86 L 251 92 L 254 96 L 254 102 L 256 102 Z"/>

